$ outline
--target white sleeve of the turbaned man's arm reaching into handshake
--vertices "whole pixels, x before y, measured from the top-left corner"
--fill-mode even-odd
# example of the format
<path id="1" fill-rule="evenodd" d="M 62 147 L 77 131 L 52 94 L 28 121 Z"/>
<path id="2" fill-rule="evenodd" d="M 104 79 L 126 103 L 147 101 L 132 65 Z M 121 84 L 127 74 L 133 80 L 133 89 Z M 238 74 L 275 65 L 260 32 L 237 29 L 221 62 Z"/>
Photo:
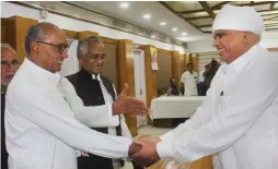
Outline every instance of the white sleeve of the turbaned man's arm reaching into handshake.
<path id="1" fill-rule="evenodd" d="M 228 107 L 209 122 L 194 131 L 181 132 L 171 142 L 159 143 L 160 157 L 192 161 L 221 152 L 241 138 L 263 113 L 270 111 L 278 94 L 277 62 L 268 64 L 270 69 L 263 65 L 244 74 L 248 79 L 238 82 Z"/>

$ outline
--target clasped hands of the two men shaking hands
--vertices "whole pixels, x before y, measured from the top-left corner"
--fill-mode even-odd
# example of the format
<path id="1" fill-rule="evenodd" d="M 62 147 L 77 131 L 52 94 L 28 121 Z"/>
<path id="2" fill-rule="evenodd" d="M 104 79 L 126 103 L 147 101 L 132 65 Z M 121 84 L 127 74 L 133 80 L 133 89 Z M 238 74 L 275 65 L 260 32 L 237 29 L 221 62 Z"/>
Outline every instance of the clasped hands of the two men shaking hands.
<path id="1" fill-rule="evenodd" d="M 135 141 L 128 150 L 128 156 L 137 165 L 149 167 L 160 160 L 157 144 L 161 142 L 158 137 L 141 136 Z"/>

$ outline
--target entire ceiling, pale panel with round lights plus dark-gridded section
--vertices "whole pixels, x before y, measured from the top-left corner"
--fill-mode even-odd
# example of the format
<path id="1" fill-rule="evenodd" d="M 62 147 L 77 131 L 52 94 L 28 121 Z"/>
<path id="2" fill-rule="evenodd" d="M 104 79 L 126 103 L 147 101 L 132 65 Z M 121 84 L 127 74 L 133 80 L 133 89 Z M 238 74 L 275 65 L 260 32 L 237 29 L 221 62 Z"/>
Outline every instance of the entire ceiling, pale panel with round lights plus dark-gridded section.
<path id="1" fill-rule="evenodd" d="M 278 31 L 277 1 L 68 1 L 82 8 L 132 23 L 183 41 L 209 36 L 213 17 L 222 5 L 252 5 L 265 20 L 266 29 Z M 143 19 L 149 14 L 150 19 Z M 166 25 L 160 25 L 165 22 Z M 177 31 L 172 31 L 173 28 Z M 186 35 L 185 35 L 186 34 Z"/>

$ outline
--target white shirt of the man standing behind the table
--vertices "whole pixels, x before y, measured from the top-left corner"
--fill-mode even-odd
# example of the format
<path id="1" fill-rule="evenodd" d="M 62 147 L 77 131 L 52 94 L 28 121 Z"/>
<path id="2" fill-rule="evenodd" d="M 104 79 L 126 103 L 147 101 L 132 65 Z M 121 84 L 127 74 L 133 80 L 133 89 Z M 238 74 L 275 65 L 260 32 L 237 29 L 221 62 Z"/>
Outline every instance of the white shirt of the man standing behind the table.
<path id="1" fill-rule="evenodd" d="M 192 74 L 186 71 L 182 74 L 181 82 L 184 83 L 184 96 L 198 96 L 197 79 L 197 72 L 193 72 Z"/>

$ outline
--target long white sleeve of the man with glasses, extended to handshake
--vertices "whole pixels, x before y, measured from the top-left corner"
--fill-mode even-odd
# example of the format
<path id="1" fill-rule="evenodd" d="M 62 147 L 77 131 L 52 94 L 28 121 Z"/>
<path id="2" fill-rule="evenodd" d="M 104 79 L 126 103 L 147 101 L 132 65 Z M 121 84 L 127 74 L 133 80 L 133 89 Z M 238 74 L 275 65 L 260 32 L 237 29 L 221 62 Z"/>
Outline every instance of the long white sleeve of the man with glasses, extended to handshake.
<path id="1" fill-rule="evenodd" d="M 20 116 L 76 149 L 106 158 L 128 156 L 129 138 L 103 134 L 82 125 L 61 96 L 48 95 L 40 88 L 32 89 L 33 93 L 21 90 L 14 100 L 9 100 L 10 107 Z"/>

